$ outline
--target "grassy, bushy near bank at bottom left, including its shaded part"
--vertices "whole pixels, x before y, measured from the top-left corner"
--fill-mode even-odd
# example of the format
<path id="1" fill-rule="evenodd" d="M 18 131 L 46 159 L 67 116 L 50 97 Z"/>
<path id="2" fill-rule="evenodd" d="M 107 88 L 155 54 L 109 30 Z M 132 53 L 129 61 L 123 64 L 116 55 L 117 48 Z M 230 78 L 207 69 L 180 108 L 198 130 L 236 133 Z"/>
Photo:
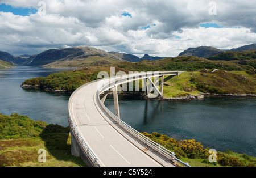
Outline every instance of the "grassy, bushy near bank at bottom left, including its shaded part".
<path id="1" fill-rule="evenodd" d="M 46 162 L 39 163 L 39 149 Z M 69 128 L 33 121 L 27 116 L 0 114 L 0 167 L 86 166 L 71 155 Z"/>

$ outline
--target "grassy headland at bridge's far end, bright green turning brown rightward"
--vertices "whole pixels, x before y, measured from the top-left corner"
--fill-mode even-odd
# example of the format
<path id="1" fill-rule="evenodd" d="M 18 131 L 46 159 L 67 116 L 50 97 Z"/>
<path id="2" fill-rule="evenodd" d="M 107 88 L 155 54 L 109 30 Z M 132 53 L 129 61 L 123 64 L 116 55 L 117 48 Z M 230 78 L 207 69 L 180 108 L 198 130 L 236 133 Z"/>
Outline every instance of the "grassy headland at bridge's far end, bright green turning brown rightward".
<path id="1" fill-rule="evenodd" d="M 164 82 L 167 86 L 163 91 L 167 98 L 204 93 L 256 94 L 256 75 L 252 71 L 204 69 L 166 77 Z"/>

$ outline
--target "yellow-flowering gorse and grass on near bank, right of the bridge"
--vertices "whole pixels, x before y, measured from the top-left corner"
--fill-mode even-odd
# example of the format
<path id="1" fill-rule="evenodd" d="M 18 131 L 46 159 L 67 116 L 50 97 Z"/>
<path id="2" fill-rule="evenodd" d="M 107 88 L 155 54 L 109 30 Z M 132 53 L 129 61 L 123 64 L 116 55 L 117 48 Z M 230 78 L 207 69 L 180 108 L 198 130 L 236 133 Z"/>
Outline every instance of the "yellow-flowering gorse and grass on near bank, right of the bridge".
<path id="1" fill-rule="evenodd" d="M 255 167 L 256 158 L 246 154 L 237 154 L 233 151 L 226 150 L 226 152 L 217 152 L 217 162 L 209 162 L 209 148 L 204 148 L 200 142 L 192 140 L 177 141 L 167 135 L 159 133 L 148 134 L 142 133 L 144 136 L 159 143 L 166 149 L 175 153 L 176 158 L 189 163 L 190 166 L 220 166 L 220 167 Z"/>

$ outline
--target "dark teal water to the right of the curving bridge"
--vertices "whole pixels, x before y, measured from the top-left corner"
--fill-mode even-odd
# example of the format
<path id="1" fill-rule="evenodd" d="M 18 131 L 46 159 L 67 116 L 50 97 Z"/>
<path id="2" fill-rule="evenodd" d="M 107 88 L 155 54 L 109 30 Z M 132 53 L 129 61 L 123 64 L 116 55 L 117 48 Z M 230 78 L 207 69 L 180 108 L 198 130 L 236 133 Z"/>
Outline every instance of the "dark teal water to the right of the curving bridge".
<path id="1" fill-rule="evenodd" d="M 140 132 L 177 140 L 195 139 L 204 147 L 256 156 L 256 99 L 205 98 L 192 101 L 141 100 L 118 96 L 121 119 Z M 105 101 L 114 112 L 113 97 Z"/>

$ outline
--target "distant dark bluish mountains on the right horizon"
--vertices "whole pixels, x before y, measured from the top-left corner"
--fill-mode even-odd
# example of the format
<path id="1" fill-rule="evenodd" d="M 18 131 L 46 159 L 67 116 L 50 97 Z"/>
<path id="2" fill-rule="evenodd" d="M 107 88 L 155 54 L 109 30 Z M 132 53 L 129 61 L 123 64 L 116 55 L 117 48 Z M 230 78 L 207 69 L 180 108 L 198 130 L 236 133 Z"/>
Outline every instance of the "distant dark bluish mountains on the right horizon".
<path id="1" fill-rule="evenodd" d="M 250 50 L 250 49 L 256 49 L 256 44 L 246 45 L 240 48 L 229 49 L 229 50 L 217 49 L 210 46 L 200 46 L 197 48 L 188 48 L 187 50 L 184 50 L 184 52 L 180 53 L 179 56 L 196 56 L 196 57 L 208 58 L 210 56 L 214 56 L 216 54 L 220 54 L 228 51 L 242 51 L 242 50 Z"/>

